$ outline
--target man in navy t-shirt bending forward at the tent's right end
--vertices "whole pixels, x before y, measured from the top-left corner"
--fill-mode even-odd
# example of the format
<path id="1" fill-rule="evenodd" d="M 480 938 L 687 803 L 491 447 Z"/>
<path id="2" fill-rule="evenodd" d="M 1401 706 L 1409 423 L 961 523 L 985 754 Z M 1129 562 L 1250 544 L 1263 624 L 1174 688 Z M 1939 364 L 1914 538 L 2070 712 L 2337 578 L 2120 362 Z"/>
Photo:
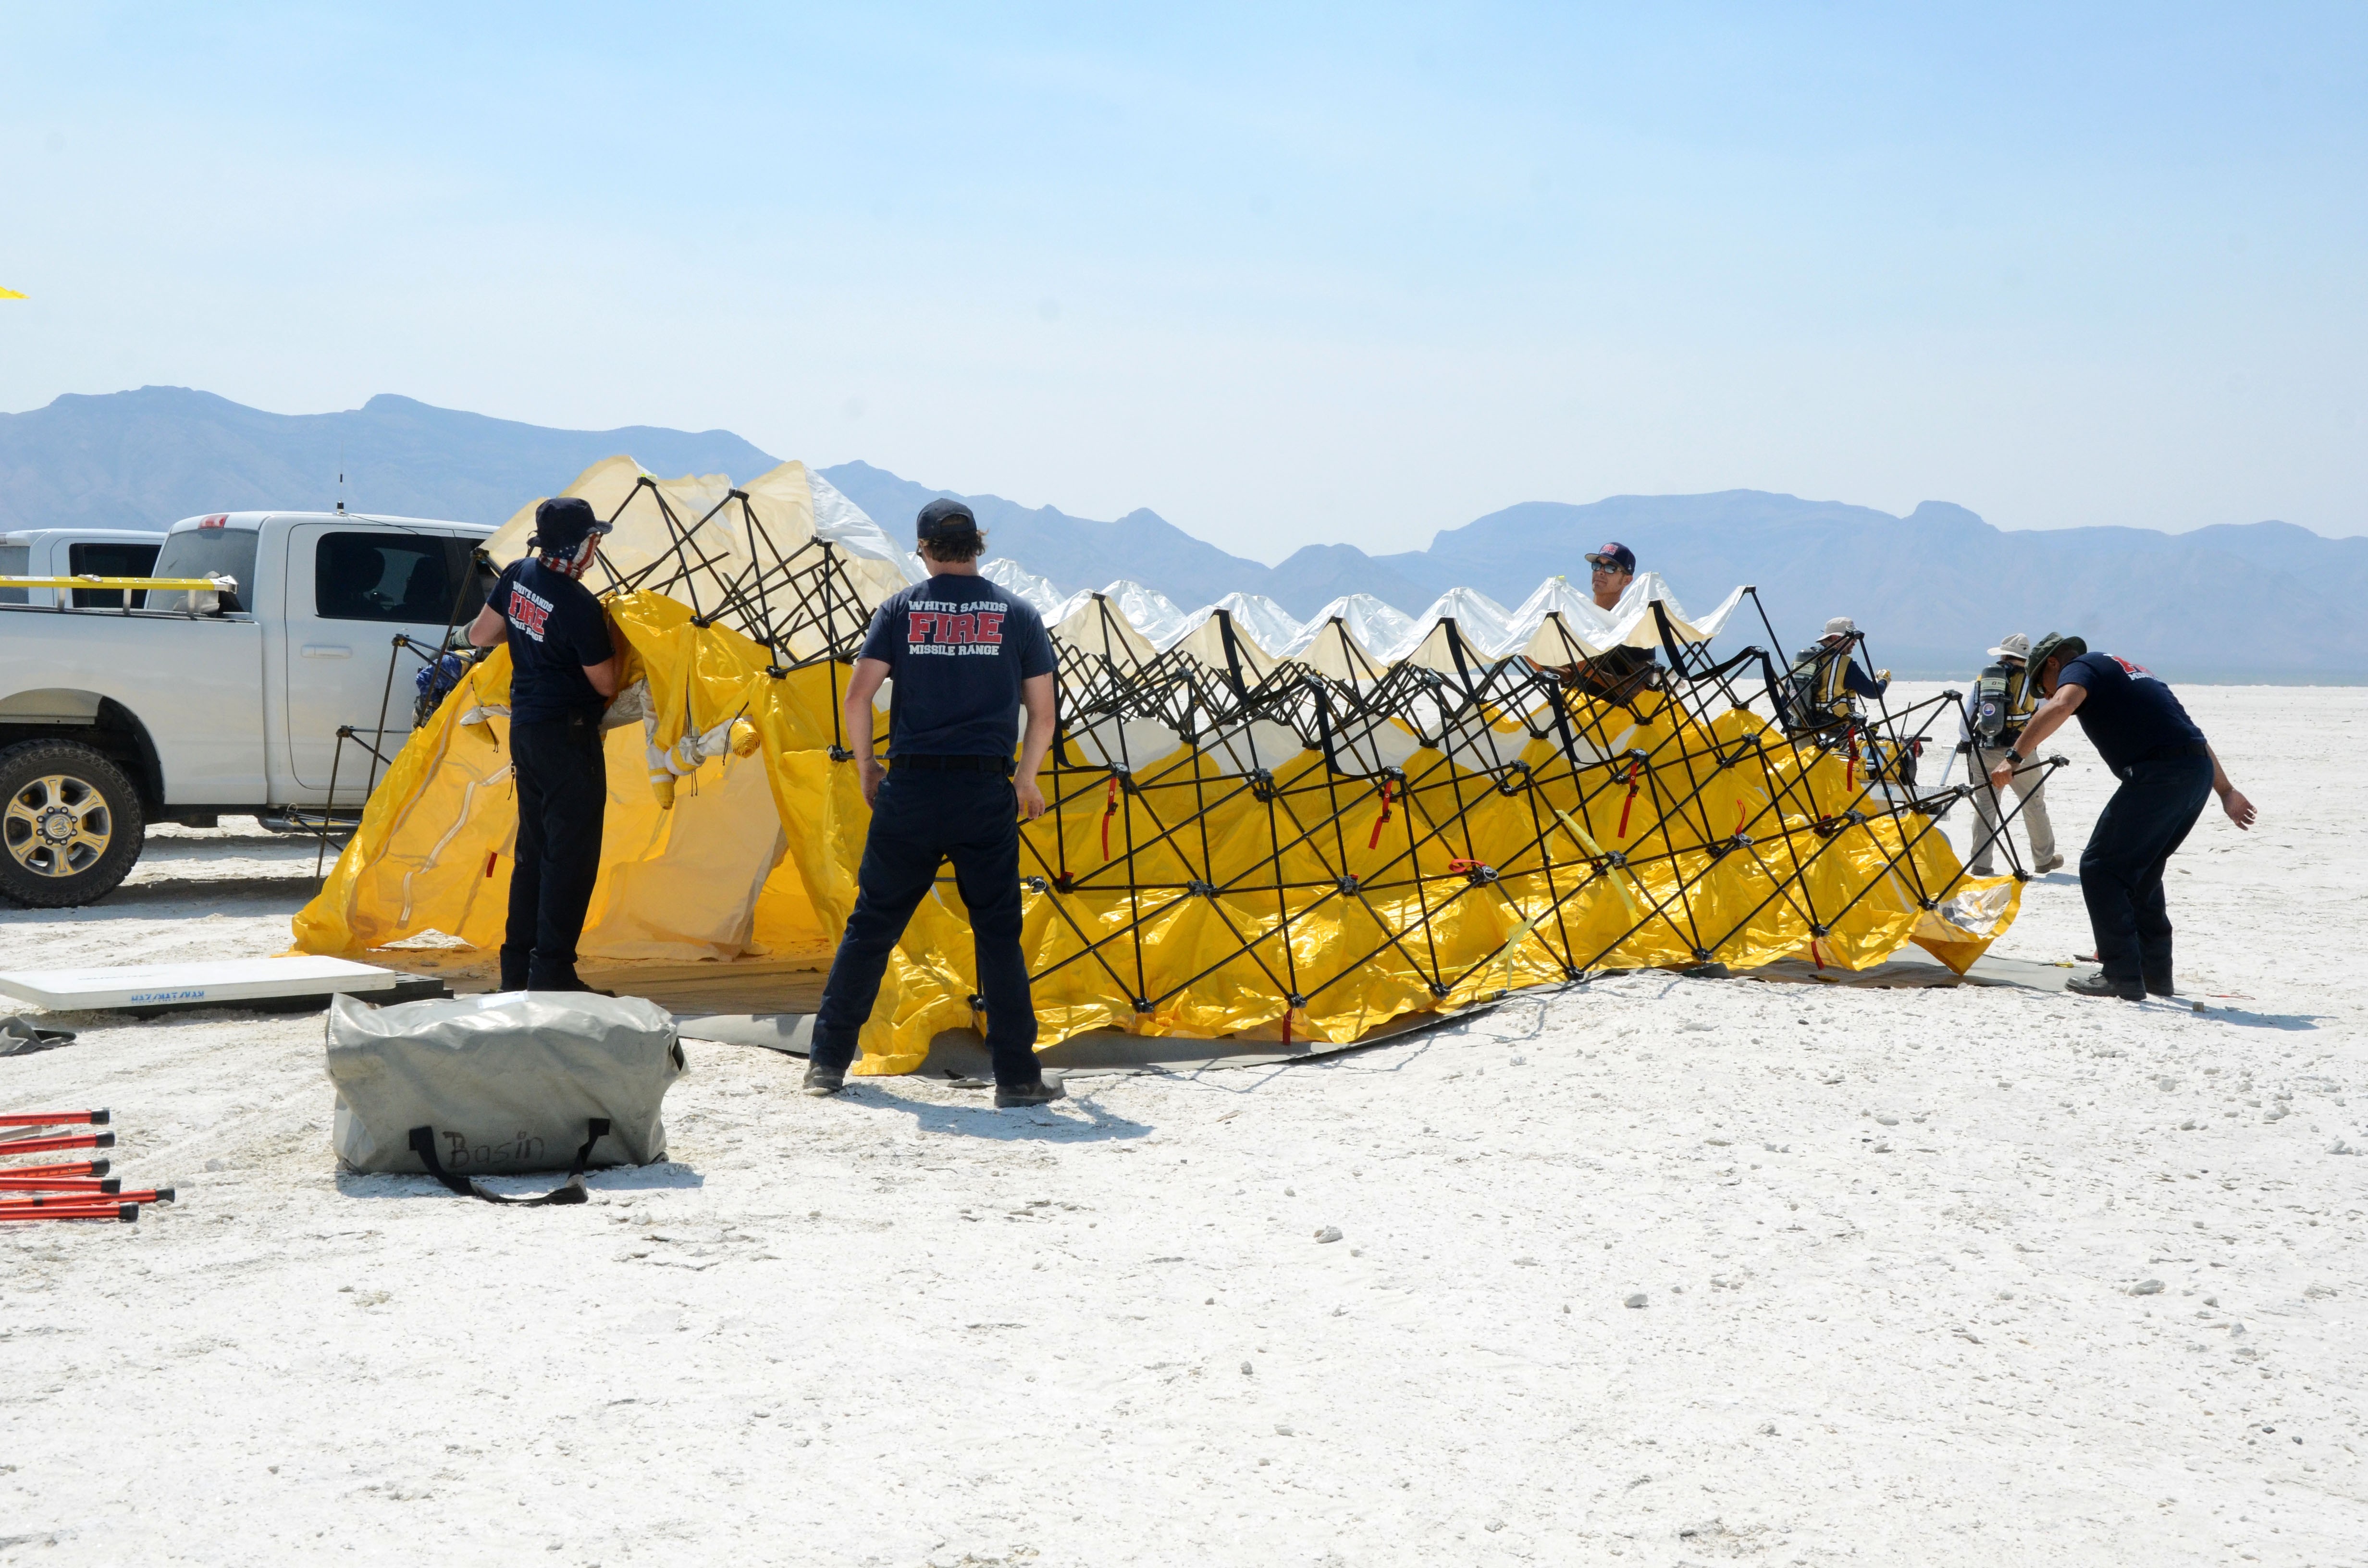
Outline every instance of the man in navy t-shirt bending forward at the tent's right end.
<path id="1" fill-rule="evenodd" d="M 2091 654 L 2079 637 L 2048 632 L 2032 649 L 2032 682 L 2044 703 L 2022 725 L 2022 739 L 1991 770 L 2006 789 L 2025 753 L 2039 751 L 2067 718 L 2079 715 L 2089 744 L 2122 786 L 2089 834 L 2079 857 L 2079 891 L 2103 973 L 2077 976 L 2065 990 L 2081 997 L 2143 1000 L 2171 995 L 2171 914 L 2162 869 L 2216 793 L 2238 827 L 2252 827 L 2252 801 L 2238 793 L 2219 756 L 2188 711 L 2145 666 Z"/>

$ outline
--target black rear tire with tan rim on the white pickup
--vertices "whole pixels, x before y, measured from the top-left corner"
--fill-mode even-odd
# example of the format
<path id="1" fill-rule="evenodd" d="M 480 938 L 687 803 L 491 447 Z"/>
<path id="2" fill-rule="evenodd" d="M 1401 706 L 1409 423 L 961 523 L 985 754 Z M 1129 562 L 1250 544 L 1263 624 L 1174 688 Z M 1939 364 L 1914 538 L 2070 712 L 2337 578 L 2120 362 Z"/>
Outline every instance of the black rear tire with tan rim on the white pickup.
<path id="1" fill-rule="evenodd" d="M 0 898 L 66 910 L 123 881 L 147 836 L 140 791 L 78 741 L 0 751 Z"/>

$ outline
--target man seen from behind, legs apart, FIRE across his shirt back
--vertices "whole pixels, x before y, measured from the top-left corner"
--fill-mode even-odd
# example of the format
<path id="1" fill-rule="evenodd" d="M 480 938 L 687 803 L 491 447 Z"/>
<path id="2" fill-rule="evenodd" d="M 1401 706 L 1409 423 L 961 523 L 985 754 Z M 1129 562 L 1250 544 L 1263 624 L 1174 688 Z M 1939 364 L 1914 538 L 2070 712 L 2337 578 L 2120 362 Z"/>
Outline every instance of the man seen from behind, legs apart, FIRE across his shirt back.
<path id="1" fill-rule="evenodd" d="M 1063 1090 L 1035 1059 L 1035 1002 L 1021 955 L 1018 817 L 1044 815 L 1035 775 L 1051 751 L 1051 637 L 1030 604 L 978 576 L 987 538 L 969 507 L 933 500 L 921 507 L 916 533 L 931 578 L 879 606 L 848 680 L 848 748 L 871 801 L 871 834 L 855 874 L 855 912 L 815 1011 L 805 1092 L 845 1087 L 888 952 L 935 886 L 938 867 L 952 860 L 987 1007 L 995 1104 L 1040 1106 Z M 871 699 L 890 677 L 883 775 L 871 756 Z M 1014 779 L 1021 706 L 1028 737 Z"/>

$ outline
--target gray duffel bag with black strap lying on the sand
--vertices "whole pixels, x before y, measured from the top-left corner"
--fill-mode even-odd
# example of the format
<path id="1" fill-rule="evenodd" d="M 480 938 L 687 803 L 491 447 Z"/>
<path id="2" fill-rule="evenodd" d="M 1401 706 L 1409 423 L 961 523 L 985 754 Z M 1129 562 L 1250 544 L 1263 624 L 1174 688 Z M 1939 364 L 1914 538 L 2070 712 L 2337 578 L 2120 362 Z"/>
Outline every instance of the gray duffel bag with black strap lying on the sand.
<path id="1" fill-rule="evenodd" d="M 580 1203 L 590 1165 L 665 1158 L 658 1104 L 682 1075 L 665 1009 L 639 997 L 504 990 L 448 1002 L 329 1002 L 336 1158 L 348 1170 L 469 1177 L 568 1170 L 538 1201 Z"/>

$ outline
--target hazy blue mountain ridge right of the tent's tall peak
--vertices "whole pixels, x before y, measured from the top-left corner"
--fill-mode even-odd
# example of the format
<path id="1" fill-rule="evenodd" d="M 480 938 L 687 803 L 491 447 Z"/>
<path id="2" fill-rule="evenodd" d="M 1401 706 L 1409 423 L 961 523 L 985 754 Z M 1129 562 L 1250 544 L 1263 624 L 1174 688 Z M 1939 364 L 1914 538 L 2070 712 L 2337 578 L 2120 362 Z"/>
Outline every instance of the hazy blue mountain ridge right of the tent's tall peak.
<path id="1" fill-rule="evenodd" d="M 822 474 L 890 531 L 931 497 L 954 495 L 869 464 Z M 1513 606 L 1551 576 L 1584 583 L 1587 552 L 1620 540 L 1686 606 L 1710 609 L 1738 583 L 1757 587 L 1778 651 L 1804 647 L 1828 616 L 1852 616 L 1875 661 L 1899 675 L 1970 677 L 1999 637 L 2065 630 L 2169 680 L 2368 680 L 2368 538 L 2330 540 L 2292 523 L 2006 533 L 1951 502 L 1928 500 L 1902 519 L 1719 490 L 1523 502 L 1442 528 L 1430 550 L 1369 557 L 1354 545 L 1307 545 L 1265 566 L 1156 512 L 1096 523 L 997 495 L 961 500 L 990 531 L 992 554 L 1063 590 L 1134 578 L 1177 604 L 1253 592 L 1302 618 L 1352 592 L 1407 613 L 1449 587 Z M 1767 640 L 1759 618 L 1745 616 L 1722 647 Z"/>

